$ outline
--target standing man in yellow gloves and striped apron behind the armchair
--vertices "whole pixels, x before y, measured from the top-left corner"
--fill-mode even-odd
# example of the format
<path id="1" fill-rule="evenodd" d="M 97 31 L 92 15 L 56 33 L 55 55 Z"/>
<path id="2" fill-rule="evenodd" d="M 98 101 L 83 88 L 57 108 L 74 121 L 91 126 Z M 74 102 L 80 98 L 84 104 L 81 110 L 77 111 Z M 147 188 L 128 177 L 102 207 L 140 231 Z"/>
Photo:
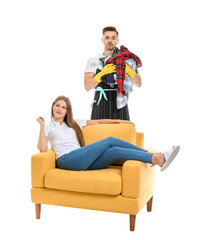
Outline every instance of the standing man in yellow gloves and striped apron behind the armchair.
<path id="1" fill-rule="evenodd" d="M 84 74 L 84 86 L 87 91 L 95 88 L 91 119 L 121 119 L 130 121 L 128 104 L 125 103 L 124 107 L 118 109 L 117 91 L 113 88 L 113 81 L 110 78 L 106 78 L 106 76 L 113 76 L 116 73 L 116 66 L 114 64 L 104 66 L 103 64 L 105 57 L 110 58 L 118 52 L 118 48 L 116 48 L 118 42 L 116 28 L 104 28 L 102 37 L 104 51 L 100 55 L 88 59 Z M 139 73 L 127 67 L 126 64 L 126 74 L 132 78 L 135 86 L 140 87 L 141 77 Z"/>

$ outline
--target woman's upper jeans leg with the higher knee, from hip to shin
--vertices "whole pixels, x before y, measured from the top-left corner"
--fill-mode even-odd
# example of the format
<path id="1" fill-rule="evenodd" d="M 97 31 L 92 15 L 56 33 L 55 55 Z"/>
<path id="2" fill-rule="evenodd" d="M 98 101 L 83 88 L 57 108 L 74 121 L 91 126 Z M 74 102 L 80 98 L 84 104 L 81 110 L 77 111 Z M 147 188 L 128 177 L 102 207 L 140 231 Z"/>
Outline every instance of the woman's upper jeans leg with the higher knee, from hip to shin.
<path id="1" fill-rule="evenodd" d="M 120 147 L 122 149 L 132 149 L 143 153 L 147 151 L 139 148 L 131 143 L 122 141 L 117 138 L 108 137 L 101 141 L 89 144 L 85 147 L 74 150 L 68 154 L 61 156 L 57 159 L 57 166 L 62 169 L 68 170 L 86 170 L 89 166 L 96 161 L 107 149 L 113 147 Z M 117 159 L 119 157 L 117 156 Z M 109 165 L 109 164 L 108 164 Z"/>

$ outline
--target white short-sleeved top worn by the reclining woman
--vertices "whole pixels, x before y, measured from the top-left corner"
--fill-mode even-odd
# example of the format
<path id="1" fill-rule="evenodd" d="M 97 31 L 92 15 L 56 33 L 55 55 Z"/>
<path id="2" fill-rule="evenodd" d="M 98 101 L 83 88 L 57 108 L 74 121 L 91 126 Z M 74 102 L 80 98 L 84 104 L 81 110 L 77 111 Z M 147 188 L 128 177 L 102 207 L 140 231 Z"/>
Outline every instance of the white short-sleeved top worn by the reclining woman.
<path id="1" fill-rule="evenodd" d="M 86 126 L 87 120 L 75 120 L 82 129 Z M 51 148 L 55 151 L 56 159 L 75 149 L 80 148 L 75 130 L 69 127 L 65 122 L 60 125 L 56 121 L 51 121 L 45 125 L 45 135 L 48 137 Z"/>

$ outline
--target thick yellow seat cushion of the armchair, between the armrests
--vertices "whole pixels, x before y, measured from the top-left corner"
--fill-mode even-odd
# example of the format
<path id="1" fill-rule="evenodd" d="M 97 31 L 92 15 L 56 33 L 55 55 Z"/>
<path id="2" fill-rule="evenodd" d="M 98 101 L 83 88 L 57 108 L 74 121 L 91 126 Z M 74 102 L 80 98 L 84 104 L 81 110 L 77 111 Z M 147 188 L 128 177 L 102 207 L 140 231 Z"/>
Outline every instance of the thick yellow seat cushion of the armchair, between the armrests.
<path id="1" fill-rule="evenodd" d="M 119 195 L 122 192 L 122 167 L 108 166 L 90 171 L 54 168 L 45 175 L 45 187 L 51 189 Z"/>

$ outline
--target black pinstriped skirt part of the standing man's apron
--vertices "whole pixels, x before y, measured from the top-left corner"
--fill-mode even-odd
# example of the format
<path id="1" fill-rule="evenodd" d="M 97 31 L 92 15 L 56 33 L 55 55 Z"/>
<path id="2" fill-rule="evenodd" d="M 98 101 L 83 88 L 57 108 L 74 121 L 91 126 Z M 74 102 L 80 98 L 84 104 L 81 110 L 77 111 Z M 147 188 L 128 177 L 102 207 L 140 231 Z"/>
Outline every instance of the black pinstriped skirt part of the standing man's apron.
<path id="1" fill-rule="evenodd" d="M 103 89 L 113 89 L 104 82 L 100 82 L 97 87 L 101 87 Z M 93 103 L 93 106 L 92 106 L 91 119 L 93 120 L 121 119 L 121 120 L 130 121 L 128 105 L 126 105 L 123 108 L 117 109 L 117 104 L 116 104 L 117 92 L 114 90 L 114 91 L 106 91 L 105 93 L 108 100 L 106 100 L 102 96 L 101 101 L 99 102 L 99 105 L 97 105 L 100 97 L 100 92 L 95 91 L 95 95 L 94 95 L 95 102 Z"/>

